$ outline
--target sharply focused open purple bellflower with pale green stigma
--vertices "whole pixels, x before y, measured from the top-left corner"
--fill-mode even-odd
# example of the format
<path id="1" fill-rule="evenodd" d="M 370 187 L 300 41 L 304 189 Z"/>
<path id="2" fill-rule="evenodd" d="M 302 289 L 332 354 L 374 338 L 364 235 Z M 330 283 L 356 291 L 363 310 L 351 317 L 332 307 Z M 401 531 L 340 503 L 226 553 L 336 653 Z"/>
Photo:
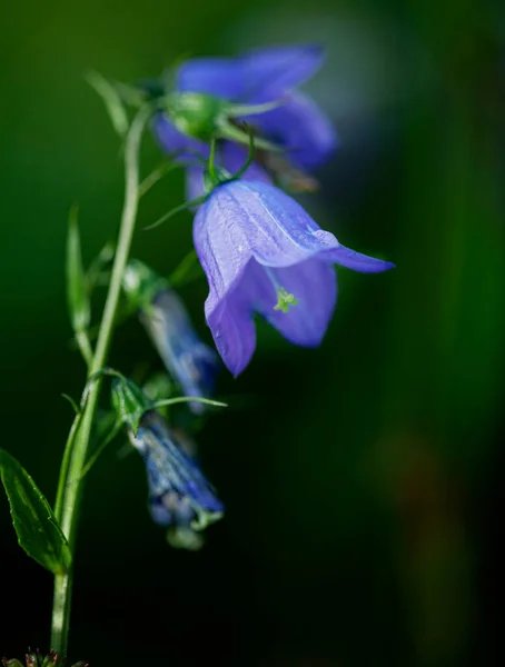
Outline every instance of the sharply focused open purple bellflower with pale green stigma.
<path id="1" fill-rule="evenodd" d="M 341 246 L 278 188 L 248 180 L 209 195 L 194 241 L 209 283 L 206 320 L 235 376 L 256 348 L 255 313 L 290 342 L 317 347 L 337 300 L 333 265 L 363 273 L 394 267 Z"/>

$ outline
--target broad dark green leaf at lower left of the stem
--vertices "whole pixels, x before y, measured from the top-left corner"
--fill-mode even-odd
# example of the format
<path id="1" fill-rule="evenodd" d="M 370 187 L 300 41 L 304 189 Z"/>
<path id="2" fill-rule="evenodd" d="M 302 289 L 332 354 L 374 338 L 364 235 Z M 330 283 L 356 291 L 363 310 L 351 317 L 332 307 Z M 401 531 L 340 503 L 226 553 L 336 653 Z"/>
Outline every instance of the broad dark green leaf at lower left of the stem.
<path id="1" fill-rule="evenodd" d="M 55 575 L 63 574 L 72 557 L 52 509 L 24 468 L 3 449 L 0 477 L 20 546 L 42 567 Z"/>

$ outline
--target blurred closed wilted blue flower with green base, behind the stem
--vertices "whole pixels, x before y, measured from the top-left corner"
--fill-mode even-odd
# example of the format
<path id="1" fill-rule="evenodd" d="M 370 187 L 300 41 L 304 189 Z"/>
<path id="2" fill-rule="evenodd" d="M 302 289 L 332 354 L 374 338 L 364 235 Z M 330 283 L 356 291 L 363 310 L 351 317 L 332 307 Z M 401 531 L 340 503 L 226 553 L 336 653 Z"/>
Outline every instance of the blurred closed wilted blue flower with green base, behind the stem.
<path id="1" fill-rule="evenodd" d="M 141 261 L 131 260 L 122 286 L 130 303 L 139 309 L 142 325 L 182 392 L 209 398 L 219 371 L 218 358 L 198 337 L 181 299 L 167 280 Z M 206 409 L 198 402 L 190 402 L 189 407 L 197 415 Z"/>

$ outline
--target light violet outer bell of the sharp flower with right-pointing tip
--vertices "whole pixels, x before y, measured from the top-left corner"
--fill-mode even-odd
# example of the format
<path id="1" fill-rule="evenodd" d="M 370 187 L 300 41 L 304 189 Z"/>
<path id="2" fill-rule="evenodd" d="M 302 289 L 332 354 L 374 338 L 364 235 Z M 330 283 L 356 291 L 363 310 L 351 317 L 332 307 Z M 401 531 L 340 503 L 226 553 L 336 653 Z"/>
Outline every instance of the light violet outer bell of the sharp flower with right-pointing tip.
<path id="1" fill-rule="evenodd" d="M 301 206 L 269 183 L 231 181 L 217 188 L 198 211 L 195 247 L 216 298 L 240 278 L 249 259 L 283 268 L 318 256 L 362 271 L 394 267 L 341 246 Z M 208 267 L 205 263 L 208 262 Z"/>

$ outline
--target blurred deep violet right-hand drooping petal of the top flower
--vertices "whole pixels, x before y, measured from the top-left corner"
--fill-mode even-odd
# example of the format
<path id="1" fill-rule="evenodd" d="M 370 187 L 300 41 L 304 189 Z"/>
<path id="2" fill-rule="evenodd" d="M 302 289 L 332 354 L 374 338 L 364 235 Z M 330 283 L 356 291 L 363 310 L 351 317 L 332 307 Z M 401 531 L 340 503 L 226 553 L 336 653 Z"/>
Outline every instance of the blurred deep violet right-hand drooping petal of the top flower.
<path id="1" fill-rule="evenodd" d="M 316 169 L 337 148 L 337 135 L 327 116 L 306 96 L 295 92 L 289 101 L 251 117 L 263 136 L 287 149 L 287 157 L 303 169 Z"/>

